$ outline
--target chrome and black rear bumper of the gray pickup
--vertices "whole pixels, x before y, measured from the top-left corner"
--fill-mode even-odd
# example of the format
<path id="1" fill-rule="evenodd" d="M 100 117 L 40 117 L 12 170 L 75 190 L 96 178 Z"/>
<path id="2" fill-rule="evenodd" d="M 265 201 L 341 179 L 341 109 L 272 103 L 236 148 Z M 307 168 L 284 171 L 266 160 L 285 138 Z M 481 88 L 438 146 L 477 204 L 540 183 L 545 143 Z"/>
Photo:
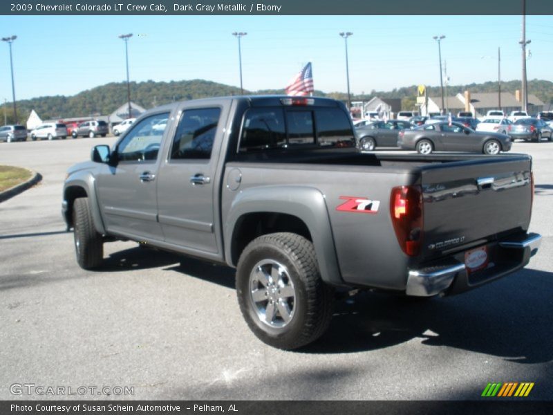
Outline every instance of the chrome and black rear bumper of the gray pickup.
<path id="1" fill-rule="evenodd" d="M 464 252 L 449 259 L 447 263 L 409 270 L 406 295 L 416 297 L 453 295 L 476 288 L 523 268 L 530 258 L 536 255 L 540 244 L 541 235 L 539 234 L 524 234 L 521 237 L 491 244 L 489 248 L 494 251 L 494 261 L 497 264 L 472 274 L 465 264 L 459 261 Z M 505 258 L 509 258 L 509 261 L 502 261 Z"/>

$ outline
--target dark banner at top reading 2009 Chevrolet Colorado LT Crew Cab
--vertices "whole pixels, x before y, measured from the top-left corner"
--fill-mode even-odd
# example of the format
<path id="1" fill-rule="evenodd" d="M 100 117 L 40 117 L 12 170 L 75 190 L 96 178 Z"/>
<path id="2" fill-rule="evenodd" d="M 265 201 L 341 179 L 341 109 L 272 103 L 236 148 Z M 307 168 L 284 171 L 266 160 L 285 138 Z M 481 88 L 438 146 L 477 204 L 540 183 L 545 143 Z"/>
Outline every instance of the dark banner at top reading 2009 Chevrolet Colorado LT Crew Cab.
<path id="1" fill-rule="evenodd" d="M 525 10 L 523 10 L 525 3 Z M 552 0 L 37 0 L 0 15 L 553 15 Z"/>

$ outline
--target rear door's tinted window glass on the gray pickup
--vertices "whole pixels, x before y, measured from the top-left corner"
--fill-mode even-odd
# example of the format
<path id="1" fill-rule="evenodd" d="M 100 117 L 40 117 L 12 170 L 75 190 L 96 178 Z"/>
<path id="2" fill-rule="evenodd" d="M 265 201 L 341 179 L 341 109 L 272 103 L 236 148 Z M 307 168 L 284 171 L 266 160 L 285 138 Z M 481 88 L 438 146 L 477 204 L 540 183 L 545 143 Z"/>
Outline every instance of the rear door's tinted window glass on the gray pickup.
<path id="1" fill-rule="evenodd" d="M 182 113 L 171 147 L 171 160 L 210 158 L 221 109 L 187 109 Z"/>

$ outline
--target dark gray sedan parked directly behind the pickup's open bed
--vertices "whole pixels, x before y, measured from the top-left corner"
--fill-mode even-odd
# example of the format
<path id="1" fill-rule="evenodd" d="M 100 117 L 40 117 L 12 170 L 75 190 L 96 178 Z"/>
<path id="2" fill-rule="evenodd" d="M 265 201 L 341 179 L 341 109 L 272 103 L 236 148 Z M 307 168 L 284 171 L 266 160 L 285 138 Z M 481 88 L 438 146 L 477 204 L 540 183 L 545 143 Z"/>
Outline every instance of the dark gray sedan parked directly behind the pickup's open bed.
<path id="1" fill-rule="evenodd" d="M 498 154 L 511 149 L 511 138 L 498 133 L 479 133 L 458 122 L 435 122 L 412 130 L 403 130 L 397 136 L 397 145 L 420 154 L 432 151 L 473 151 Z"/>

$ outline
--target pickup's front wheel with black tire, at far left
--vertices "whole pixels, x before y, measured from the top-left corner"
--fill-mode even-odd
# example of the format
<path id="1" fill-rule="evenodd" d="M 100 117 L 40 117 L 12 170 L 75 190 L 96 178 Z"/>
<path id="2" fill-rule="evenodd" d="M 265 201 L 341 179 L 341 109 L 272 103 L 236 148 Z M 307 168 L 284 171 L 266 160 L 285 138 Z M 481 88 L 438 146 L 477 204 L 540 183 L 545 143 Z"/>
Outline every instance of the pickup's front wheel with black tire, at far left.
<path id="1" fill-rule="evenodd" d="M 102 235 L 94 228 L 90 203 L 87 197 L 75 199 L 73 203 L 73 239 L 77 264 L 85 270 L 97 268 L 104 258 Z"/>

